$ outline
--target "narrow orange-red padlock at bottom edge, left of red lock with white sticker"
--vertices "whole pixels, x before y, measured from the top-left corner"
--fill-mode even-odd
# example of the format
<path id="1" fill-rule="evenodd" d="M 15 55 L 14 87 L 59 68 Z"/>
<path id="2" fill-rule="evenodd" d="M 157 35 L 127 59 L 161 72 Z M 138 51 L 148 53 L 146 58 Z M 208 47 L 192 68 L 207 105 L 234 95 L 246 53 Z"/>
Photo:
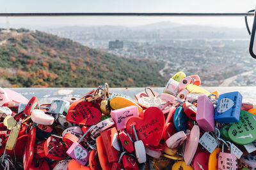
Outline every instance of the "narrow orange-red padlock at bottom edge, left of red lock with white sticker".
<path id="1" fill-rule="evenodd" d="M 101 136 L 98 136 L 96 138 L 96 146 L 97 146 L 97 152 L 98 152 L 98 157 L 99 157 L 101 168 L 103 170 L 110 170 L 113 163 L 108 162 L 107 153 L 104 148 L 104 144 L 103 144 Z"/>

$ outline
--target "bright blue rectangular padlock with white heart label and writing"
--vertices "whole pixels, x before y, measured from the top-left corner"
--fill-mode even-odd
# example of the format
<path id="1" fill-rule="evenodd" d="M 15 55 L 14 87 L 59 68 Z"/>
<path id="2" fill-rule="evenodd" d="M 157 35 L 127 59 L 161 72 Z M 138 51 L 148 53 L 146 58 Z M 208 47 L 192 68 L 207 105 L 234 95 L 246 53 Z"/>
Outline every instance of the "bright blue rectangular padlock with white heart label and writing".
<path id="1" fill-rule="evenodd" d="M 216 106 L 214 119 L 219 123 L 239 121 L 243 96 L 239 92 L 221 94 Z"/>

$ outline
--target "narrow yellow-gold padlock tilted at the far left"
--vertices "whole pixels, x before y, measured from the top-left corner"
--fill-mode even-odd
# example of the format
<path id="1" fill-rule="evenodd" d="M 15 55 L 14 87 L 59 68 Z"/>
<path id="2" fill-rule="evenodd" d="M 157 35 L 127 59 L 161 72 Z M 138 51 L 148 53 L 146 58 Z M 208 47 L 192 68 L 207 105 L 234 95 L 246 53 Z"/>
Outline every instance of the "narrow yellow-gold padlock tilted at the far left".
<path id="1" fill-rule="evenodd" d="M 16 127 L 13 127 L 11 132 L 10 132 L 10 136 L 8 137 L 7 141 L 6 141 L 6 150 L 13 150 L 18 136 L 19 136 L 19 132 L 20 132 L 20 125 L 21 125 L 21 118 L 19 120 L 19 122 L 17 123 Z"/>

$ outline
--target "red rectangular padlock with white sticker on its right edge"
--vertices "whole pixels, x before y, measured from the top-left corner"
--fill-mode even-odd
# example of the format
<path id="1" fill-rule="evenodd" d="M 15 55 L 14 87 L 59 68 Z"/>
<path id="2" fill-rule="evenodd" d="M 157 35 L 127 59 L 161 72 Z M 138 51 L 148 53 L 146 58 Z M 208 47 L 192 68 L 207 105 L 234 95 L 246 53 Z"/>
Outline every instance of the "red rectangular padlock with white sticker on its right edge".
<path id="1" fill-rule="evenodd" d="M 102 141 L 104 143 L 108 161 L 109 162 L 118 161 L 121 147 L 120 147 L 120 140 L 119 140 L 118 132 L 116 131 L 116 128 L 112 127 L 111 129 L 103 131 L 100 133 L 100 136 L 102 136 Z"/>

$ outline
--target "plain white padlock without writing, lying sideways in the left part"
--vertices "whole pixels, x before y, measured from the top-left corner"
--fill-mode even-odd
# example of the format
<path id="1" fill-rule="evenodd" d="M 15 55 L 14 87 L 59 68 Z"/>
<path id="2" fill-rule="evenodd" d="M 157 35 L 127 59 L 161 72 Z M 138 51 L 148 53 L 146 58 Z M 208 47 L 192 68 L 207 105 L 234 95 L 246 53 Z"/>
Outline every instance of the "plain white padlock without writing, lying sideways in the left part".
<path id="1" fill-rule="evenodd" d="M 33 110 L 31 113 L 31 120 L 33 120 L 33 122 L 36 124 L 52 125 L 54 122 L 54 117 L 46 114 L 42 110 Z"/>

